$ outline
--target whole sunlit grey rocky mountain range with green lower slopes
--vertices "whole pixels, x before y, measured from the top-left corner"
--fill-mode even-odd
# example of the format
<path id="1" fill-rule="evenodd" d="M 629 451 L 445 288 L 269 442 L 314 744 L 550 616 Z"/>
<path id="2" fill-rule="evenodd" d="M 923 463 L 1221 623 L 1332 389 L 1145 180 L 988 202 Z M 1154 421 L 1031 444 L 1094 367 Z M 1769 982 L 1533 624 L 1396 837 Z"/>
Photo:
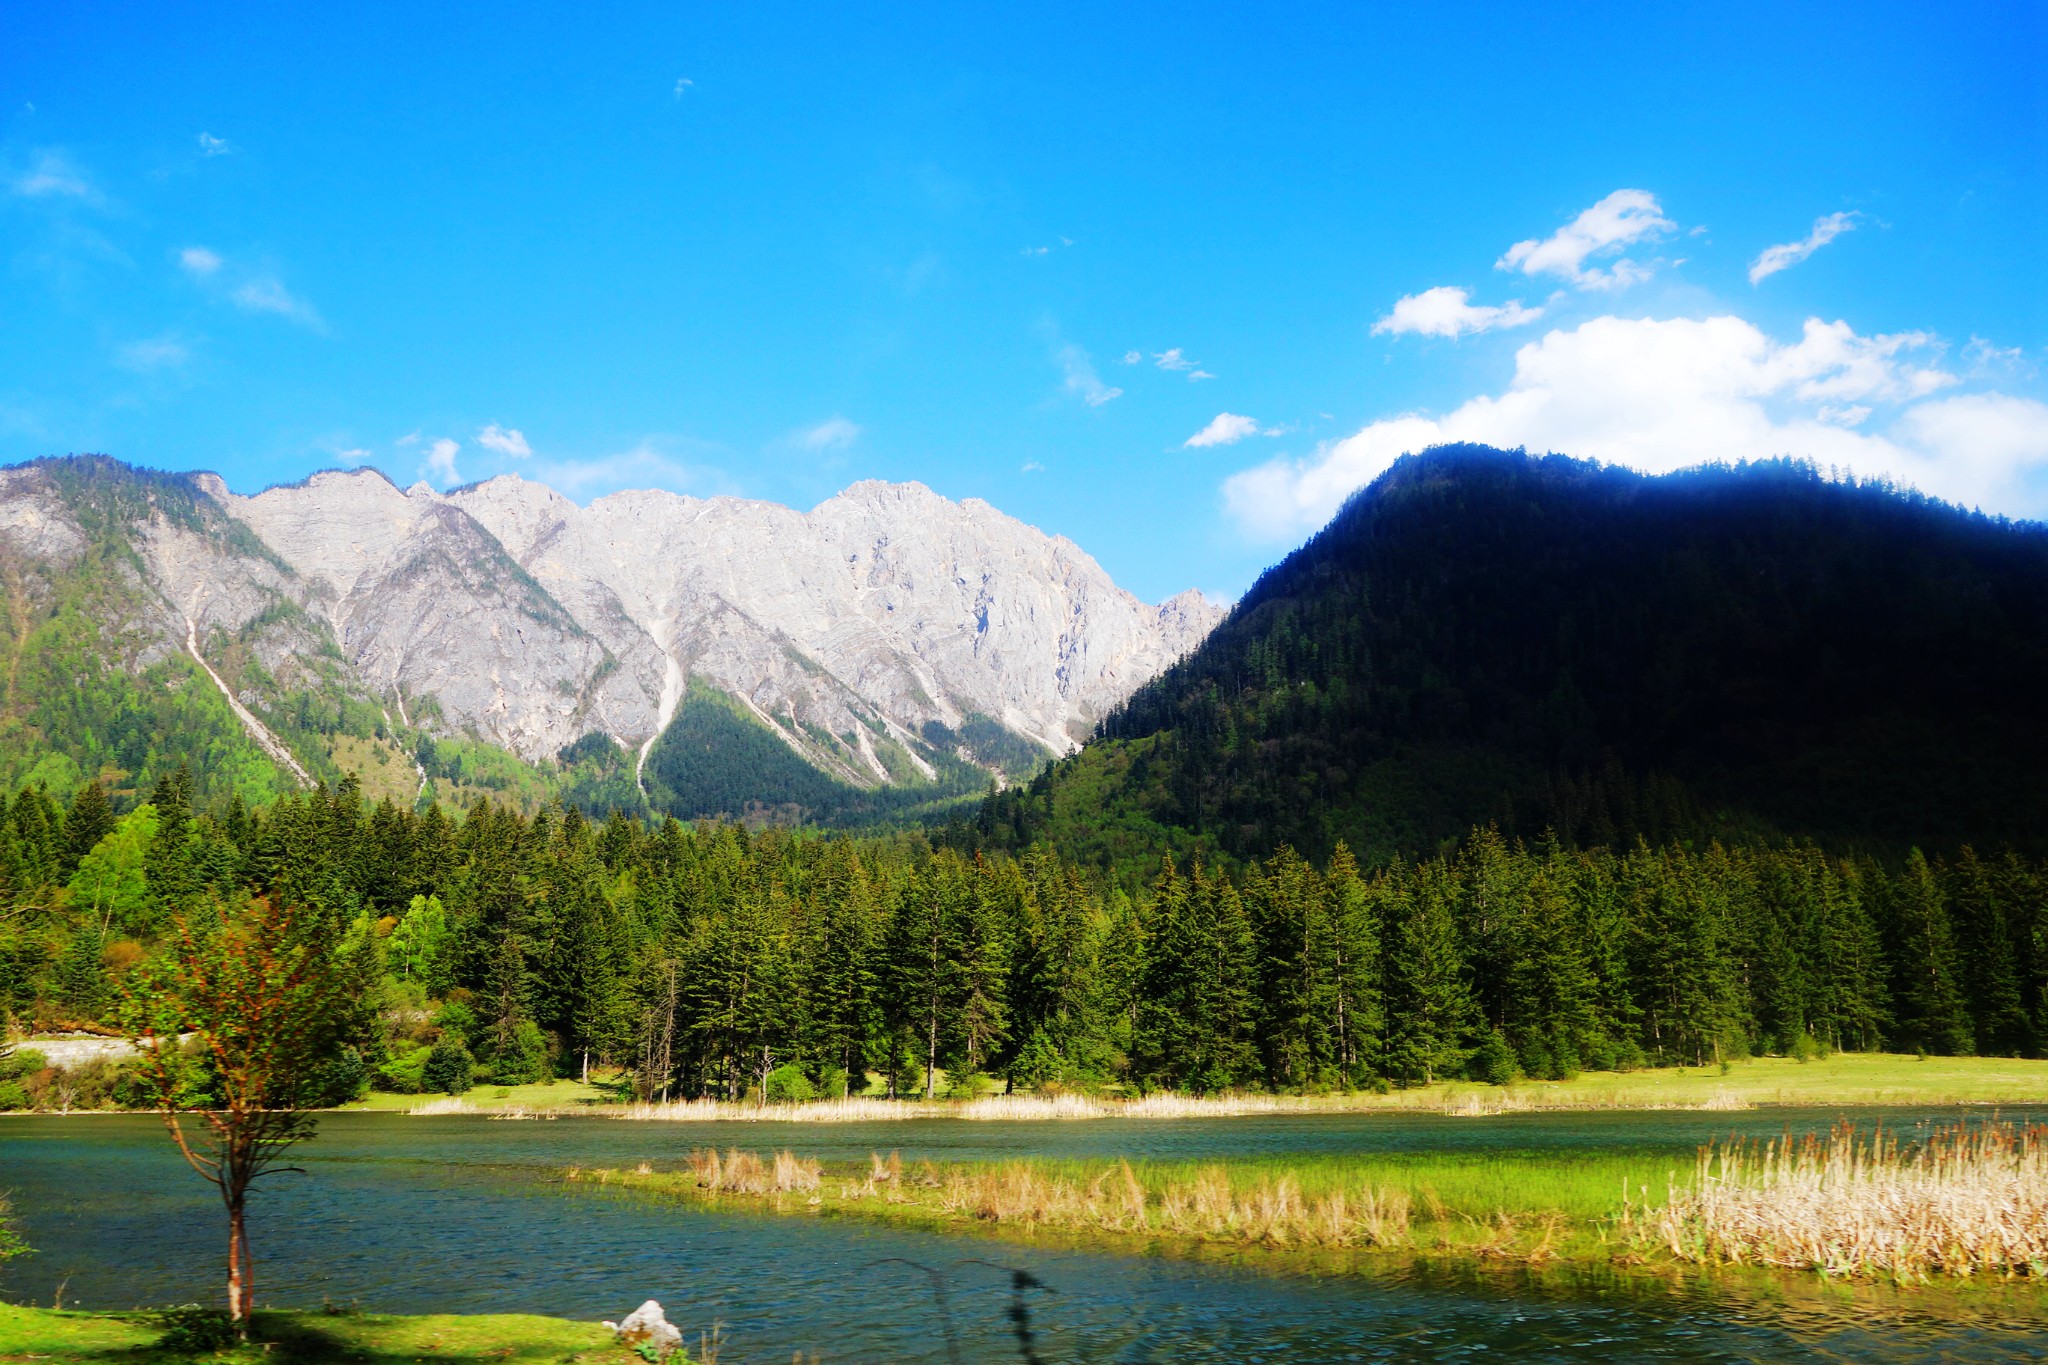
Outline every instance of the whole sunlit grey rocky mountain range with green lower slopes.
<path id="1" fill-rule="evenodd" d="M 1223 614 L 1147 606 L 1071 540 L 915 483 L 811 512 L 371 469 L 244 497 L 104 456 L 0 471 L 0 579 L 14 778 L 139 782 L 201 743 L 248 796 L 266 765 L 283 788 L 369 763 L 395 794 L 676 814 L 1030 772 Z"/>

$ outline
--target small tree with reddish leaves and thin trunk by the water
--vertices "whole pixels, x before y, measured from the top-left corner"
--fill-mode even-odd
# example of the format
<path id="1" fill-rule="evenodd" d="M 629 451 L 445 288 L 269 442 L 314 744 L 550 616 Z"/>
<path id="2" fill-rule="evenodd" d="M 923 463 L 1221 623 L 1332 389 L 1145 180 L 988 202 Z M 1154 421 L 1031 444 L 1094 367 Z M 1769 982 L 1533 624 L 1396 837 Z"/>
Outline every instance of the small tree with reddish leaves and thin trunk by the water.
<path id="1" fill-rule="evenodd" d="M 250 1185 L 313 1136 L 324 1066 L 354 1017 L 350 964 L 307 911 L 250 900 L 217 927 L 180 919 L 164 960 L 129 976 L 127 1033 L 172 1140 L 227 1205 L 227 1314 L 248 1330 Z"/>

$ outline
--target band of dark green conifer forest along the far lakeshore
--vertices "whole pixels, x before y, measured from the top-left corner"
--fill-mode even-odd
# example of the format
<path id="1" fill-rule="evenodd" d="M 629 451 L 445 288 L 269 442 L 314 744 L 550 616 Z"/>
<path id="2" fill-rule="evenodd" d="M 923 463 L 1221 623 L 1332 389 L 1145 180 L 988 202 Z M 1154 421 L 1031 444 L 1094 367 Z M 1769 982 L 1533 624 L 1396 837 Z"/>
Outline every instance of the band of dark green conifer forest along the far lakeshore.
<path id="1" fill-rule="evenodd" d="M 113 1027 L 180 923 L 252 894 L 367 982 L 330 1097 L 625 1068 L 647 1097 L 879 1087 L 1329 1091 L 1755 1052 L 2048 1046 L 2048 866 L 1812 845 L 1575 849 L 1473 831 L 1360 868 L 1161 857 L 1139 894 L 1038 847 L 367 806 L 352 782 L 117 814 L 23 788 L 0 1007 Z M 55 1103 L 16 1064 L 0 1105 Z M 66 1103 L 121 1099 L 68 1083 Z"/>

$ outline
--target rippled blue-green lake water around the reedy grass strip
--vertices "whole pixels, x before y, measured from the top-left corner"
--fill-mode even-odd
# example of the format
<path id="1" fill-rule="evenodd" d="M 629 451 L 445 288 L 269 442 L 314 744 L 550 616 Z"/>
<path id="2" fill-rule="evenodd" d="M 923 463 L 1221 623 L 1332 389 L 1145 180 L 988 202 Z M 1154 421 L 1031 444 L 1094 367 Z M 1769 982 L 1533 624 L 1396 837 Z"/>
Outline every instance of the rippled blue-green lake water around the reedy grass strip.
<path id="1" fill-rule="evenodd" d="M 2048 1293 L 1827 1289 L 1786 1277 L 1651 1283 L 1376 1261 L 1370 1275 L 1253 1261 L 1112 1257 L 766 1218 L 563 1191 L 567 1164 L 676 1162 L 696 1146 L 821 1158 L 1669 1150 L 1776 1136 L 1833 1111 L 1284 1115 L 1245 1119 L 860 1126 L 494 1124 L 346 1113 L 301 1148 L 303 1175 L 258 1193 L 258 1293 L 383 1312 L 612 1318 L 657 1297 L 692 1332 L 723 1322 L 727 1361 L 1014 1361 L 1010 1271 L 1047 1361 L 2009 1361 L 2048 1359 Z M 1956 1111 L 1890 1111 L 1892 1128 Z M 2011 1117 L 2048 1117 L 2013 1113 Z M 82 1308 L 217 1295 L 221 1214 L 150 1117 L 0 1119 L 0 1187 L 41 1254 L 8 1297 Z"/>

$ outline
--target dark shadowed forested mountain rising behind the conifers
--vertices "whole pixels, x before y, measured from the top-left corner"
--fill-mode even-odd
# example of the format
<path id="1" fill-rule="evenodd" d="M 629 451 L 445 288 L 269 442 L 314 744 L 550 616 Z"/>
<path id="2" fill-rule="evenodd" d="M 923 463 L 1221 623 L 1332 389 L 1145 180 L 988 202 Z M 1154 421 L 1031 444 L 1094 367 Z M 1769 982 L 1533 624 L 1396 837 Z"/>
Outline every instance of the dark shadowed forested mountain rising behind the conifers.
<path id="1" fill-rule="evenodd" d="M 2048 530 L 1798 463 L 1647 477 L 1444 446 L 1270 569 L 973 831 L 1378 860 L 1569 843 L 2048 841 Z"/>

